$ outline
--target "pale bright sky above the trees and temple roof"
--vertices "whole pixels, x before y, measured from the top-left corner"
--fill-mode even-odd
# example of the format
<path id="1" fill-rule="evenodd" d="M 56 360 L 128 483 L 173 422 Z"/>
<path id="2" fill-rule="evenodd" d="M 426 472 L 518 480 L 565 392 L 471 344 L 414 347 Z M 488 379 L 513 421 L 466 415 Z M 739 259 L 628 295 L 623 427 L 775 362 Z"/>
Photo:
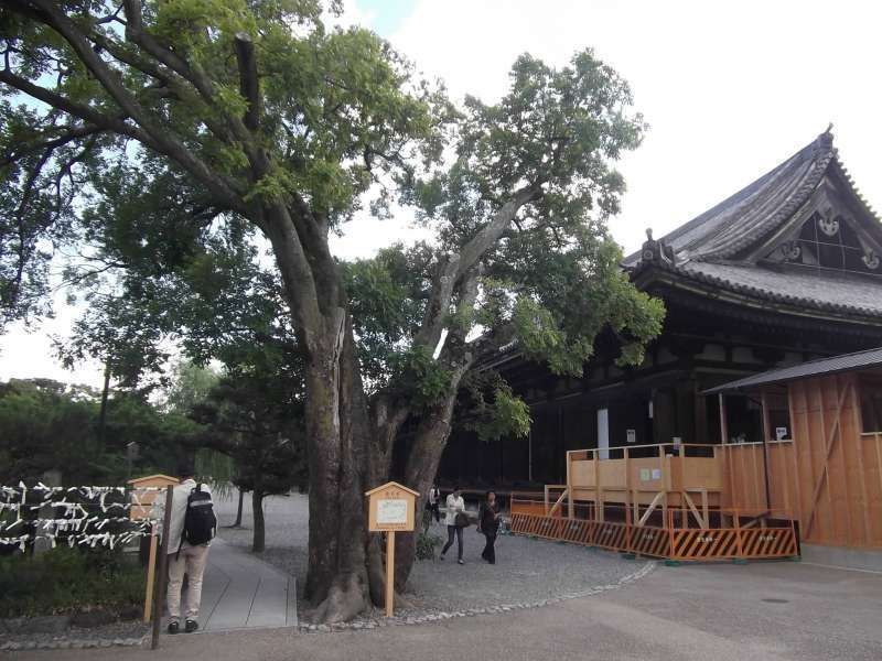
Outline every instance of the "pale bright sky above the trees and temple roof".
<path id="1" fill-rule="evenodd" d="M 562 66 L 591 47 L 631 84 L 650 129 L 620 170 L 627 182 L 611 220 L 625 252 L 646 228 L 660 237 L 749 184 L 833 123 L 835 145 L 871 205 L 882 205 L 882 3 L 589 0 L 349 0 L 344 24 L 388 39 L 461 99 L 493 101 L 525 52 Z M 880 207 L 882 208 L 882 207 Z M 406 219 L 359 218 L 336 254 L 369 257 L 419 230 Z M 58 302 L 63 303 L 63 293 Z M 0 338 L 0 379 L 100 383 L 100 367 L 63 370 L 49 334 L 75 311 Z"/>

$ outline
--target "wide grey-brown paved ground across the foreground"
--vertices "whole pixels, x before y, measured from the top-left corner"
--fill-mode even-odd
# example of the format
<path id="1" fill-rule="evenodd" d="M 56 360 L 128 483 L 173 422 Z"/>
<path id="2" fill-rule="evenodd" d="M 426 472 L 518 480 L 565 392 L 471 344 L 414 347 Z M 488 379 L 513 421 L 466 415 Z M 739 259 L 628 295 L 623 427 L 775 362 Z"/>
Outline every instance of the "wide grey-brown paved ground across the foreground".
<path id="1" fill-rule="evenodd" d="M 162 649 L 20 652 L 15 661 L 879 661 L 882 575 L 796 563 L 659 566 L 546 608 L 372 631 L 263 629 Z"/>

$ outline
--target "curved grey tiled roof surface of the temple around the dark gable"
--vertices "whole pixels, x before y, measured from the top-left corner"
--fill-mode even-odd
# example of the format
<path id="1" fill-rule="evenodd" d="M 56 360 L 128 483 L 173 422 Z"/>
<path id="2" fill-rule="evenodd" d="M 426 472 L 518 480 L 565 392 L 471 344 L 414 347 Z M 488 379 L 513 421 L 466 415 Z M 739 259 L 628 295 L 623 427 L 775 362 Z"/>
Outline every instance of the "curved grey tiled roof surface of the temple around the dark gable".
<path id="1" fill-rule="evenodd" d="M 882 223 L 854 187 L 828 131 L 665 237 L 655 240 L 647 232 L 649 238 L 641 251 L 627 257 L 623 266 L 635 278 L 655 268 L 785 306 L 882 318 L 882 269 L 879 274 L 864 274 L 796 267 L 771 263 L 756 253 L 757 247 L 771 245 L 795 227 L 797 215 L 825 194 L 830 181 L 836 182 L 837 195 L 848 198 L 848 207 L 858 216 L 853 221 L 861 226 L 865 240 L 882 243 Z"/>

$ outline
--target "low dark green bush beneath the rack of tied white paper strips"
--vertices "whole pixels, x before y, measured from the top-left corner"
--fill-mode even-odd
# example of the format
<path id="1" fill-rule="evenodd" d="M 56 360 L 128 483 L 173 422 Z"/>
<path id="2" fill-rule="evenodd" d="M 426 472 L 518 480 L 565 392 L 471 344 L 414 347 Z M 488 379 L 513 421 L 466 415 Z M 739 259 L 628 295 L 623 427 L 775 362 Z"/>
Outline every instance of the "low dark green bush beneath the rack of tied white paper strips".
<path id="1" fill-rule="evenodd" d="M 116 611 L 143 595 L 143 568 L 119 551 L 60 546 L 0 557 L 0 617 Z"/>

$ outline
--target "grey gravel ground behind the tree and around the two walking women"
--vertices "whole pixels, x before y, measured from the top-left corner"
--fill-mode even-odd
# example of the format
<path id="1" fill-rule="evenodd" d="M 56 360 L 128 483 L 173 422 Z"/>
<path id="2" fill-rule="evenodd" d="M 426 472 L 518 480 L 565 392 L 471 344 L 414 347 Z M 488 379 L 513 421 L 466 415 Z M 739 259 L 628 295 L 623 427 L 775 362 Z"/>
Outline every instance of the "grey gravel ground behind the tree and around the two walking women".
<path id="1" fill-rule="evenodd" d="M 216 501 L 220 525 L 233 523 L 236 499 L 217 498 Z M 265 510 L 267 550 L 263 559 L 293 574 L 300 588 L 306 573 L 306 496 L 267 498 Z M 247 496 L 243 524 L 247 530 L 222 528 L 219 535 L 247 551 L 251 543 L 251 509 Z M 447 540 L 443 524 L 433 524 L 431 533 Z M 405 615 L 537 604 L 578 596 L 617 584 L 644 565 L 641 561 L 622 560 L 614 553 L 512 535 L 497 539 L 496 564 L 488 565 L 481 560 L 484 537 L 474 527 L 463 532 L 463 540 L 465 565 L 456 564 L 455 542 L 447 560 L 416 563 L 406 595 L 411 608 L 406 609 Z"/>

